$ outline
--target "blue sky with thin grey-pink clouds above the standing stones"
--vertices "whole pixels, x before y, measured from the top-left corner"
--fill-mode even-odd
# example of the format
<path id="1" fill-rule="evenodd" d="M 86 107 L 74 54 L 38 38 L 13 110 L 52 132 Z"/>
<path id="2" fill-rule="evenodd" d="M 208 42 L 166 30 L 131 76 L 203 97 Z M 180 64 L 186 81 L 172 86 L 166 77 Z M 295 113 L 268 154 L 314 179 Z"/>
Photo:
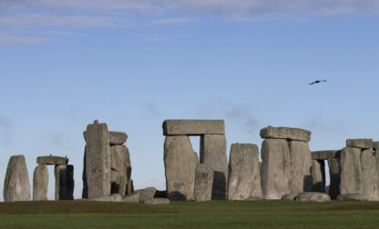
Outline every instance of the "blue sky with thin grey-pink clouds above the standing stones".
<path id="1" fill-rule="evenodd" d="M 0 201 L 14 154 L 31 188 L 37 156 L 67 155 L 81 198 L 95 119 L 128 134 L 136 189 L 165 189 L 166 119 L 224 119 L 228 157 L 268 125 L 312 131 L 312 151 L 379 140 L 378 15 L 375 0 L 0 0 Z"/>

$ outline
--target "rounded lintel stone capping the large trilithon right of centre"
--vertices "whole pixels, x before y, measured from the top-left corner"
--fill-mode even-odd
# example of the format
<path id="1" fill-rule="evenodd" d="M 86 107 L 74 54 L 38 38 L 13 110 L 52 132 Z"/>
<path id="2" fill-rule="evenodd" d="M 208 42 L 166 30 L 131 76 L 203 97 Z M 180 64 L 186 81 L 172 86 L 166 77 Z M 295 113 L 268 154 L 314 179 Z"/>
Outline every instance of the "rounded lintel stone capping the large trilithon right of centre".
<path id="1" fill-rule="evenodd" d="M 299 128 L 272 127 L 261 129 L 261 138 L 279 138 L 295 141 L 311 141 L 311 132 Z"/>

